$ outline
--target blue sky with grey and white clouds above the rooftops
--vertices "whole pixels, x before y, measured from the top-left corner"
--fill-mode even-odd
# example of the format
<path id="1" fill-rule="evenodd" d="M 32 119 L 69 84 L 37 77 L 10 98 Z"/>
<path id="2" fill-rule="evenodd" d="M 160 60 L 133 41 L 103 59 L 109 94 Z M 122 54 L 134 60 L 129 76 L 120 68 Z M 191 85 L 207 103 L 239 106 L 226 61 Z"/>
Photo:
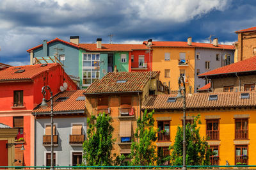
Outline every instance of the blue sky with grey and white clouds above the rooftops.
<path id="1" fill-rule="evenodd" d="M 254 0 L 0 0 L 0 63 L 29 64 L 26 50 L 56 37 L 80 42 L 236 42 L 234 31 L 256 26 Z"/>

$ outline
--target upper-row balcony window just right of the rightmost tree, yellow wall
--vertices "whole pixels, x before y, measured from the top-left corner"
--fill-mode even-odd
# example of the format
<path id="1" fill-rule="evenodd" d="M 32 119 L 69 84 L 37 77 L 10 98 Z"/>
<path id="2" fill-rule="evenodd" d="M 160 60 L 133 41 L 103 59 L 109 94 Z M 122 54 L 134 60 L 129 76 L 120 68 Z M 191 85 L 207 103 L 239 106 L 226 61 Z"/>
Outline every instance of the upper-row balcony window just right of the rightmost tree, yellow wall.
<path id="1" fill-rule="evenodd" d="M 219 120 L 206 120 L 206 135 L 209 140 L 219 139 Z"/>

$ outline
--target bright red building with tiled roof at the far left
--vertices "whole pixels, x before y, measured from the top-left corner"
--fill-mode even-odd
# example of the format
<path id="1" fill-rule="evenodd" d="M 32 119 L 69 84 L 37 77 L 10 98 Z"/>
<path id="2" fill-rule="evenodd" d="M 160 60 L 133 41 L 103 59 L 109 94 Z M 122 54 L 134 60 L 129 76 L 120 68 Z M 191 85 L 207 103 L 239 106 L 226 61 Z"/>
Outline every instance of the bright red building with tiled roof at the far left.
<path id="1" fill-rule="evenodd" d="M 43 86 L 53 95 L 60 92 L 63 82 L 68 90 L 77 89 L 58 64 L 12 66 L 0 71 L 0 123 L 18 128 L 15 139 L 15 166 L 34 165 L 34 117 L 31 112 L 42 102 Z M 49 100 L 47 94 L 47 100 Z M 25 150 L 20 148 L 24 145 Z M 14 160 L 13 160 L 14 161 Z"/>

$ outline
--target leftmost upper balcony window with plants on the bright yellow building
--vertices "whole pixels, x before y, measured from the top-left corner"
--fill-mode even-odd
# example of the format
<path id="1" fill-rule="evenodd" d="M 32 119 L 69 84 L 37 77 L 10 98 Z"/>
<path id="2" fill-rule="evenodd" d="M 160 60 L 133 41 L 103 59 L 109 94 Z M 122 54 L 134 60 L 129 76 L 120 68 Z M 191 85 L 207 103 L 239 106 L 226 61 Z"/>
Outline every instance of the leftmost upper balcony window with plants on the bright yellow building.
<path id="1" fill-rule="evenodd" d="M 158 141 L 170 141 L 170 121 L 157 121 Z"/>

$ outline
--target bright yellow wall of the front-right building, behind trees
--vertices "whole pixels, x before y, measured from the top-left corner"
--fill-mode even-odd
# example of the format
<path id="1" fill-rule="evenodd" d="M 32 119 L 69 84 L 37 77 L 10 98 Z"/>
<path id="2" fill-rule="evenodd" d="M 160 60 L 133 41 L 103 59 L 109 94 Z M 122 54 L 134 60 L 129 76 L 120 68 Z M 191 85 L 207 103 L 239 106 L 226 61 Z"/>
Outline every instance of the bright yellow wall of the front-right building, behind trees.
<path id="1" fill-rule="evenodd" d="M 248 144 L 248 164 L 255 165 L 256 157 L 256 110 L 246 110 L 246 109 L 238 109 L 238 110 L 215 110 L 215 111 L 197 111 L 191 112 L 187 111 L 186 115 L 188 116 L 196 116 L 200 114 L 202 124 L 200 127 L 200 136 L 205 136 L 206 133 L 206 125 L 205 125 L 205 116 L 206 115 L 220 115 L 220 166 L 226 165 L 226 160 L 230 165 L 235 165 L 235 144 L 234 141 L 249 141 Z M 249 114 L 248 118 L 248 139 L 235 140 L 235 114 Z M 175 135 L 177 133 L 177 127 L 182 123 L 182 112 L 157 112 L 154 113 L 154 118 L 158 117 L 171 117 L 170 121 L 170 141 L 173 144 L 175 141 Z M 157 127 L 157 121 L 155 122 L 155 127 Z M 242 144 L 241 144 L 242 145 Z"/>

